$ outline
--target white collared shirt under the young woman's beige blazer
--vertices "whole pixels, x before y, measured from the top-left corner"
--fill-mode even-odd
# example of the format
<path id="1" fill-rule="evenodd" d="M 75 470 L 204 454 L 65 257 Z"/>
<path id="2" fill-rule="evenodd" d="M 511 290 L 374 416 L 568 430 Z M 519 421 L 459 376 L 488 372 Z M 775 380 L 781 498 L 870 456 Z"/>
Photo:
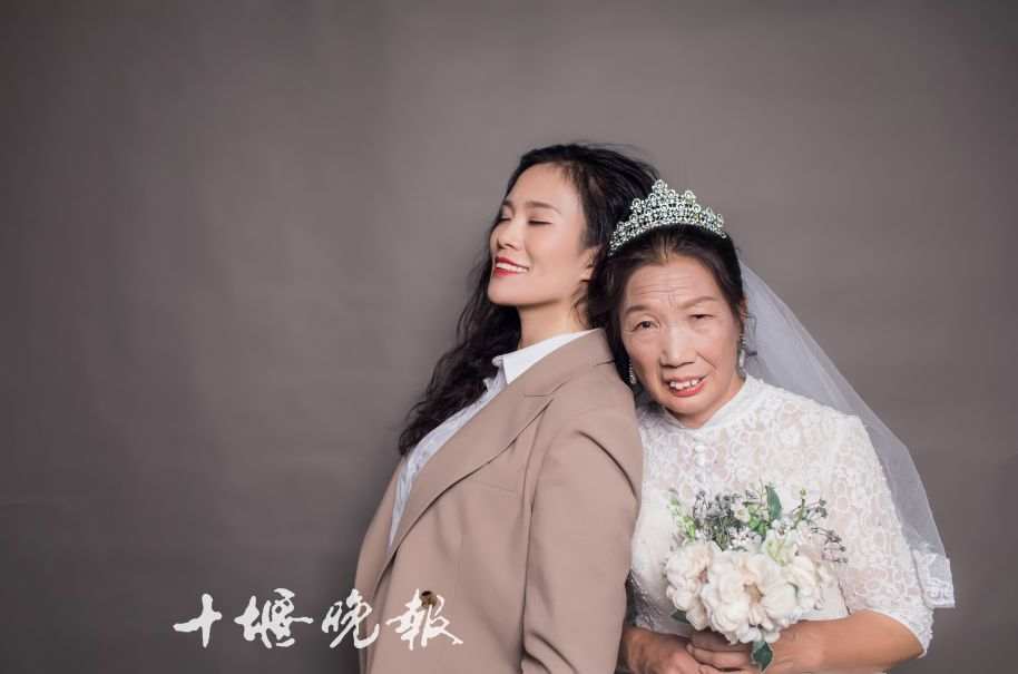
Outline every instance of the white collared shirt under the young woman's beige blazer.
<path id="1" fill-rule="evenodd" d="M 581 338 L 587 333 L 594 332 L 596 328 L 584 330 L 581 332 L 566 332 L 541 340 L 536 344 L 530 344 L 525 349 L 517 349 L 509 353 L 502 353 L 491 359 L 491 364 L 498 368 L 493 377 L 484 378 L 486 391 L 476 401 L 452 414 L 437 428 L 432 429 L 427 436 L 421 438 L 407 457 L 403 470 L 400 472 L 399 481 L 395 488 L 395 502 L 392 507 L 392 525 L 389 529 L 389 545 L 395 537 L 395 531 L 400 526 L 400 518 L 403 516 L 403 509 L 407 507 L 407 500 L 410 497 L 410 488 L 424 463 L 446 445 L 458 430 L 467 426 L 474 414 L 481 411 L 492 398 L 498 395 L 502 389 L 511 384 L 518 377 L 526 372 L 537 361 L 541 360 L 559 346 Z"/>

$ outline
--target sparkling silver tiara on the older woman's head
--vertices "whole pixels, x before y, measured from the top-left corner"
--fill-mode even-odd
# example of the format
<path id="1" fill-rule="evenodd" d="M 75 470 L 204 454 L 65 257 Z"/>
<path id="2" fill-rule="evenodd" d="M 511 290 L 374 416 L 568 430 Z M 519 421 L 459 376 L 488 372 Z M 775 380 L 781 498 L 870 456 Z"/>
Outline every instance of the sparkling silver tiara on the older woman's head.
<path id="1" fill-rule="evenodd" d="M 629 218 L 615 227 L 608 244 L 608 255 L 614 255 L 626 243 L 656 227 L 668 225 L 696 225 L 727 238 L 725 218 L 721 213 L 696 203 L 696 195 L 686 189 L 681 195 L 662 179 L 654 183 L 647 198 L 635 198 L 629 207 Z"/>

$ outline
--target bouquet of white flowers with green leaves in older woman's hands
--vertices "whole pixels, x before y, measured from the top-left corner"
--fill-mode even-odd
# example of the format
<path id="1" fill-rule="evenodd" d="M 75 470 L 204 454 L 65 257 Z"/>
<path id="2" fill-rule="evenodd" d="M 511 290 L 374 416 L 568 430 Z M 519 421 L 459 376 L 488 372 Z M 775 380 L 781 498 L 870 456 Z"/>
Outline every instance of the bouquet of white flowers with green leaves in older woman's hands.
<path id="1" fill-rule="evenodd" d="M 821 499 L 786 511 L 772 485 L 716 496 L 701 491 L 692 510 L 673 495 L 677 546 L 665 561 L 672 617 L 695 629 L 711 628 L 728 643 L 753 644 L 753 662 L 771 664 L 771 644 L 782 629 L 823 600 L 828 563 L 844 561 Z"/>

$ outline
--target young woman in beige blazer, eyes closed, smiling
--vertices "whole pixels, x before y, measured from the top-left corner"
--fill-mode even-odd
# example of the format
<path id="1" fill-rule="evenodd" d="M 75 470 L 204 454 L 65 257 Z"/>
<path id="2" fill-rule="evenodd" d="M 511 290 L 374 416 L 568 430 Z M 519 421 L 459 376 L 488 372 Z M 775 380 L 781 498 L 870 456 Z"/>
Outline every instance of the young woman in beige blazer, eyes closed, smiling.
<path id="1" fill-rule="evenodd" d="M 362 674 L 614 670 L 643 450 L 586 295 L 655 177 L 604 147 L 520 159 L 364 536 Z"/>

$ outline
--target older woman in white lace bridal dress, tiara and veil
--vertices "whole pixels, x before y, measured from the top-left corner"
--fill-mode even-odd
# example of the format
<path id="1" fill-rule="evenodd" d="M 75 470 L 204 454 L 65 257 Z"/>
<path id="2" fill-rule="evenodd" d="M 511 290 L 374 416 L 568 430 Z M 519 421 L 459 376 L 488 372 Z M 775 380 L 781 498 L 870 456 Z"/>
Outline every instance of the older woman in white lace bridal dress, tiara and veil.
<path id="1" fill-rule="evenodd" d="M 923 654 L 932 608 L 953 605 L 953 592 L 907 450 L 881 440 L 878 453 L 858 416 L 746 372 L 746 352 L 755 351 L 769 379 L 776 374 L 871 414 L 861 401 L 849 403 L 854 393 L 755 275 L 761 290 L 747 297 L 744 276 L 752 273 L 740 264 L 722 218 L 663 182 L 633 211 L 591 287 L 591 315 L 607 324 L 620 370 L 644 397 L 633 624 L 619 665 L 637 673 L 758 671 L 748 645 L 692 632 L 672 617 L 663 565 L 675 531 L 670 490 L 689 507 L 701 490 L 709 498 L 767 482 L 785 504 L 796 502 L 800 489 L 824 498 L 825 526 L 842 536 L 848 557 L 834 565 L 822 610 L 772 644 L 767 672 L 874 672 Z M 754 332 L 766 338 L 752 346 L 750 314 Z M 868 426 L 887 430 L 875 419 Z M 897 471 L 890 481 L 881 458 Z"/>

